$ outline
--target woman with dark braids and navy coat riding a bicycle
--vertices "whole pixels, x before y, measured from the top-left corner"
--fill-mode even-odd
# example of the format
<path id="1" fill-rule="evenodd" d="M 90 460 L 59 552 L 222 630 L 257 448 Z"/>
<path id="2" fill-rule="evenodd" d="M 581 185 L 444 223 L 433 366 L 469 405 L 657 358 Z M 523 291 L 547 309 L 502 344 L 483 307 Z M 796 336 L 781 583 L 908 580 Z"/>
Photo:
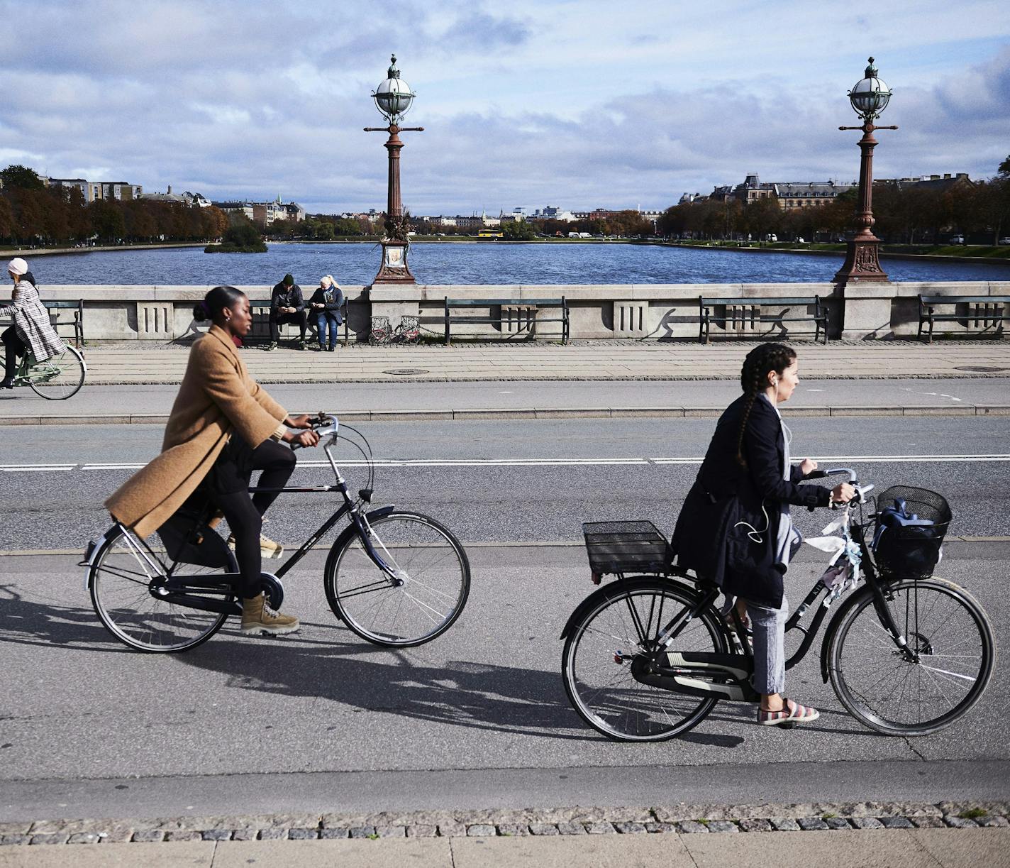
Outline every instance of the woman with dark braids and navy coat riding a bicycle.
<path id="1" fill-rule="evenodd" d="M 783 576 L 802 538 L 790 504 L 813 509 L 845 503 L 855 490 L 841 483 L 830 491 L 799 483 L 817 462 L 790 463 L 792 433 L 779 404 L 799 382 L 792 348 L 763 344 L 743 362 L 743 394 L 719 417 L 698 477 L 684 502 L 673 548 L 678 563 L 711 579 L 733 598 L 753 631 L 754 689 L 762 694 L 758 722 L 810 721 L 814 708 L 782 695 L 786 682 L 784 637 L 789 604 Z"/>

